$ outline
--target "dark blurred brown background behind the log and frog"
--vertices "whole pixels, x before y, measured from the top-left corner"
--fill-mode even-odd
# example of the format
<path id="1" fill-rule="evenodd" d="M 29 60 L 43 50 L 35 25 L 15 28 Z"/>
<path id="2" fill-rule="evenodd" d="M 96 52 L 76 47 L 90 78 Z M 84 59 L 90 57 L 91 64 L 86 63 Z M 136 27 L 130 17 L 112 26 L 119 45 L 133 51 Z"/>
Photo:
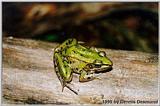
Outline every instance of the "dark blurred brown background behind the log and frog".
<path id="1" fill-rule="evenodd" d="M 158 53 L 158 3 L 3 3 L 3 34 Z"/>

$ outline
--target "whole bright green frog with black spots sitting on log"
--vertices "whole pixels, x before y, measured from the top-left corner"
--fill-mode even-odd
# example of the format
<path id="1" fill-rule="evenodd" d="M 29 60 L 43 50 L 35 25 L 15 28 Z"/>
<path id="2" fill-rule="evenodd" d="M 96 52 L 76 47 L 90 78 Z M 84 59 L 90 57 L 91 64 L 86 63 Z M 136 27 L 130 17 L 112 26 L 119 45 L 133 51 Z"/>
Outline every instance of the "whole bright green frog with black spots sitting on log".
<path id="1" fill-rule="evenodd" d="M 88 82 L 98 79 L 95 74 L 112 69 L 113 62 L 104 51 L 87 47 L 79 43 L 75 38 L 69 38 L 54 49 L 53 63 L 55 72 L 62 85 L 68 86 L 73 78 L 73 73 L 79 74 L 79 82 Z"/>

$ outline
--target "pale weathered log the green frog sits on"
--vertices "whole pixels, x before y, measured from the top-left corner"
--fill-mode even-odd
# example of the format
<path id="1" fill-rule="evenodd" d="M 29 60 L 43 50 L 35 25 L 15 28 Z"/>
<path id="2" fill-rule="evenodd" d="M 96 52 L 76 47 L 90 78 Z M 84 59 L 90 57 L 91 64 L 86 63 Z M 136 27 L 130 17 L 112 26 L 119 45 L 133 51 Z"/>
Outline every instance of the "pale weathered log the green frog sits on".
<path id="1" fill-rule="evenodd" d="M 70 86 L 78 92 L 75 95 L 66 87 L 62 92 L 54 71 L 52 56 L 57 45 L 3 38 L 3 104 L 111 104 L 109 100 L 112 104 L 115 100 L 158 103 L 157 54 L 99 48 L 113 61 L 113 69 L 85 83 L 74 74 Z"/>

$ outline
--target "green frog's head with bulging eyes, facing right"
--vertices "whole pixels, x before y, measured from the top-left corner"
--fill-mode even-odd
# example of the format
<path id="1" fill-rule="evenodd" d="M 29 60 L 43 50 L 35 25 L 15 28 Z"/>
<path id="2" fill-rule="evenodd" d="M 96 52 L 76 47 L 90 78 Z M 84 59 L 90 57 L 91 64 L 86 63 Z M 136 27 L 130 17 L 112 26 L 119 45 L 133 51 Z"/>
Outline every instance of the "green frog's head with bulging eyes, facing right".
<path id="1" fill-rule="evenodd" d="M 100 51 L 99 57 L 94 60 L 93 63 L 88 64 L 89 70 L 93 72 L 104 72 L 112 69 L 113 63 L 107 58 L 106 53 Z"/>

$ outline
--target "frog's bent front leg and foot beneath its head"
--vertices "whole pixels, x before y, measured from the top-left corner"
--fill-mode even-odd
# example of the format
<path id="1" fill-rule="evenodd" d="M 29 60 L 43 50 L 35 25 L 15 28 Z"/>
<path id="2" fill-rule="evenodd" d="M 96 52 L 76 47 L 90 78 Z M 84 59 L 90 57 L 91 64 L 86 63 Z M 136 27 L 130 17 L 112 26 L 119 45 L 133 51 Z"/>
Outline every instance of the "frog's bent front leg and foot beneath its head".
<path id="1" fill-rule="evenodd" d="M 99 79 L 99 78 L 95 77 L 94 73 L 88 73 L 86 71 L 81 71 L 81 74 L 79 76 L 79 82 L 88 82 L 94 79 Z"/>

